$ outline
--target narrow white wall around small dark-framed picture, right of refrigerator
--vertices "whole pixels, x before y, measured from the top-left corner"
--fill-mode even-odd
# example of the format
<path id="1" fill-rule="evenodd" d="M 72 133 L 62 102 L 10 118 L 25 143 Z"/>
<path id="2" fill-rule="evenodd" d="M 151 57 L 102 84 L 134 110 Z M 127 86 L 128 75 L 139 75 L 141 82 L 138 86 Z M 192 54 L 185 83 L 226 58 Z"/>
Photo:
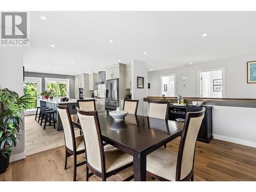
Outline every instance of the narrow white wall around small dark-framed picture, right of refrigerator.
<path id="1" fill-rule="evenodd" d="M 143 98 L 147 97 L 147 69 L 146 63 L 132 60 L 132 99 L 138 99 L 137 115 L 146 115 Z M 137 77 L 144 77 L 144 89 L 137 89 Z"/>

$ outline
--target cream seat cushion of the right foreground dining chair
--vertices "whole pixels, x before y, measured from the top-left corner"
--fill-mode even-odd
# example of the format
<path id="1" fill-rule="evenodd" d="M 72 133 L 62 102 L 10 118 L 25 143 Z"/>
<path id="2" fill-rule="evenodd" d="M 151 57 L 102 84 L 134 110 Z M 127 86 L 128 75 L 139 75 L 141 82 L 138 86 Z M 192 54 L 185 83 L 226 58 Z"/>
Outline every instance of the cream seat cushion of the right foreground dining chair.
<path id="1" fill-rule="evenodd" d="M 146 157 L 146 170 L 164 179 L 175 181 L 177 154 L 161 147 Z"/>

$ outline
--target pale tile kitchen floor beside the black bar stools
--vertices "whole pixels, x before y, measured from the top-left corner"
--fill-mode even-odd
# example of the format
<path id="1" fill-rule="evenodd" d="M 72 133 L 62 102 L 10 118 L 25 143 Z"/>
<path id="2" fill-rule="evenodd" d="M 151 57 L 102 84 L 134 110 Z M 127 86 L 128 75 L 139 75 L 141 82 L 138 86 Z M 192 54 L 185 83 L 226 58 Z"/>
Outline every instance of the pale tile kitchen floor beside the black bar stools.
<path id="1" fill-rule="evenodd" d="M 44 124 L 44 123 L 43 123 Z M 79 129 L 75 129 L 75 135 L 79 135 Z M 35 120 L 35 115 L 25 116 L 25 149 L 26 155 L 50 150 L 65 145 L 63 131 L 57 132 L 53 126 L 41 126 Z"/>

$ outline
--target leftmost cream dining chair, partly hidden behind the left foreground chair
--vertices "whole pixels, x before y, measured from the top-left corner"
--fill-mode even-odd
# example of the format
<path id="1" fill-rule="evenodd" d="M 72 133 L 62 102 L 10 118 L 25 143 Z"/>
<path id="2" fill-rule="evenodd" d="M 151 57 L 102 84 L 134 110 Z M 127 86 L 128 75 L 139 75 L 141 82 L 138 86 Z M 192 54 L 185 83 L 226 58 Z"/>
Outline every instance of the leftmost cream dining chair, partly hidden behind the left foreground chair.
<path id="1" fill-rule="evenodd" d="M 77 164 L 77 155 L 85 153 L 85 146 L 83 136 L 75 137 L 74 127 L 71 122 L 71 116 L 68 106 L 58 105 L 58 114 L 63 125 L 64 137 L 65 137 L 65 169 L 67 169 L 68 157 L 74 156 L 74 176 L 73 181 L 76 181 L 76 167 L 86 164 L 86 161 Z"/>

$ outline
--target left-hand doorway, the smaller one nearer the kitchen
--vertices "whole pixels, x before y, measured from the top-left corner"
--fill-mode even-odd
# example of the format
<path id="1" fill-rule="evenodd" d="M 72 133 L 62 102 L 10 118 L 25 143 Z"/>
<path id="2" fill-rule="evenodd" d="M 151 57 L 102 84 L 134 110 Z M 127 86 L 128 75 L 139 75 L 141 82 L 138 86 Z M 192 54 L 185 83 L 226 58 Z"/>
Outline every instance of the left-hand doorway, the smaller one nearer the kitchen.
<path id="1" fill-rule="evenodd" d="M 176 94 L 176 75 L 161 75 L 160 76 L 160 94 L 166 97 L 175 97 Z"/>

